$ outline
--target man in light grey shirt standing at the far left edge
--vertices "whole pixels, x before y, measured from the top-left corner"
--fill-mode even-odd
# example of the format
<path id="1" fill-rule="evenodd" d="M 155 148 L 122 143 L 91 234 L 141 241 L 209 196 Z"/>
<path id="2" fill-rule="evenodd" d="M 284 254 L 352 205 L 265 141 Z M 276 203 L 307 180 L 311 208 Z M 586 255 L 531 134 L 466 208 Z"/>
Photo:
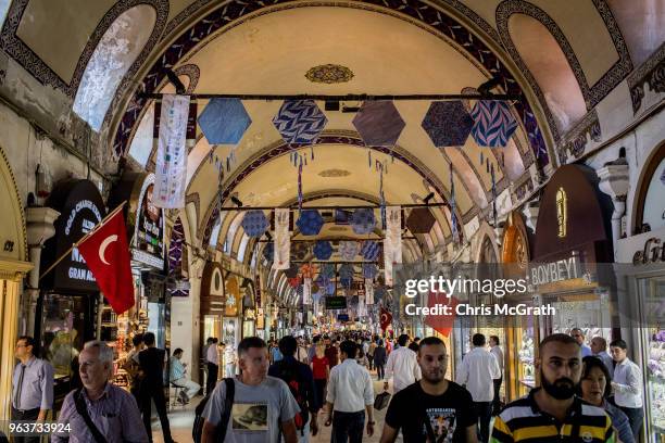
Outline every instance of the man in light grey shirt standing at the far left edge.
<path id="1" fill-rule="evenodd" d="M 20 363 L 12 378 L 12 420 L 43 421 L 53 406 L 53 366 L 35 356 L 35 339 L 23 336 L 14 355 Z M 38 443 L 38 436 L 14 439 L 16 443 Z"/>

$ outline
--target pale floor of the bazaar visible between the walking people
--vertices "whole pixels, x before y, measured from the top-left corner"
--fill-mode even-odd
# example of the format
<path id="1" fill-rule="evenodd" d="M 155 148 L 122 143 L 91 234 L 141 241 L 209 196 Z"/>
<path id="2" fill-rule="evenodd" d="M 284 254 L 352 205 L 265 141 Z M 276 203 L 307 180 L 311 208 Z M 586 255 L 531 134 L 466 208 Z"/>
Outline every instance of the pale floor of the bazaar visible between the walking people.
<path id="1" fill-rule="evenodd" d="M 379 393 L 384 390 L 384 382 L 376 381 L 376 375 L 373 375 L 374 379 L 374 392 Z M 195 407 L 199 403 L 201 397 L 193 398 L 189 405 L 186 407 L 175 407 L 172 408 L 168 414 L 168 420 L 171 422 L 171 433 L 173 438 L 178 443 L 190 443 L 191 439 L 191 428 L 195 419 Z M 363 442 L 367 443 L 376 443 L 379 441 L 381 429 L 384 427 L 384 419 L 386 416 L 386 409 L 382 410 L 374 410 L 375 420 L 377 422 L 375 428 L 375 434 L 372 438 L 368 438 L 365 433 L 363 438 Z M 312 443 L 328 443 L 330 442 L 330 429 L 324 425 L 323 414 L 318 418 L 319 432 L 316 436 L 311 436 L 310 442 Z M 153 443 L 163 443 L 161 427 L 159 420 L 154 421 L 153 425 Z"/>

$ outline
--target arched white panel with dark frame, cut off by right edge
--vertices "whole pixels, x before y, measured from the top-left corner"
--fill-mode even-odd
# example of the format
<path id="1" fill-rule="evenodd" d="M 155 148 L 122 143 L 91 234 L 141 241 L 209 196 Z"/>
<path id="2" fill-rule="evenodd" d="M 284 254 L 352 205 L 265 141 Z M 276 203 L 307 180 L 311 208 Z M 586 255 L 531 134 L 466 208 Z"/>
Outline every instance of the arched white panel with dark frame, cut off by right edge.
<path id="1" fill-rule="evenodd" d="M 633 233 L 665 228 L 665 142 L 653 150 L 642 168 L 633 200 Z"/>

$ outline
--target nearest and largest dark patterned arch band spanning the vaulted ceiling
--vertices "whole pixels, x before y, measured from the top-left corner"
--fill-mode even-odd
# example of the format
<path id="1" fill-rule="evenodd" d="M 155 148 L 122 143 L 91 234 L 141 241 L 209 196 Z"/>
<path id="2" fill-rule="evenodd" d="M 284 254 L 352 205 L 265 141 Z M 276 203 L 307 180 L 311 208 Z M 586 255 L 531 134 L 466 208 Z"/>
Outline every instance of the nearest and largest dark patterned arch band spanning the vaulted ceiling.
<path id="1" fill-rule="evenodd" d="M 389 14 L 400 20 L 406 20 L 416 26 L 423 27 L 429 33 L 432 33 L 434 29 L 436 35 L 448 43 L 450 43 L 450 41 L 456 42 L 457 46 L 455 48 L 463 51 L 465 56 L 473 60 L 474 63 L 482 66 L 489 73 L 489 75 L 500 77 L 502 79 L 501 86 L 507 93 L 515 94 L 520 98 L 520 100 L 516 103 L 515 109 L 528 134 L 531 149 L 541 166 L 549 163 L 549 154 L 542 131 L 539 127 L 536 114 L 531 110 L 531 106 L 524 94 L 524 91 L 509 68 L 503 64 L 499 56 L 485 45 L 482 39 L 476 38 L 476 36 L 469 29 L 463 26 L 451 15 L 446 14 L 441 8 L 436 8 L 427 3 L 404 3 L 401 0 L 386 0 L 381 5 L 382 8 L 375 7 L 372 3 L 373 1 L 371 0 L 350 3 L 292 3 L 286 0 L 275 0 L 269 10 L 262 12 L 271 13 L 287 8 L 316 8 L 328 5 L 335 5 L 338 8 L 356 8 L 371 10 L 376 13 Z M 164 78 L 164 61 L 167 61 L 168 65 L 171 66 L 176 65 L 178 61 L 186 59 L 188 55 L 196 52 L 202 45 L 205 45 L 208 37 L 224 31 L 222 28 L 228 28 L 228 24 L 237 25 L 235 22 L 247 21 L 248 16 L 251 14 L 256 15 L 262 7 L 262 2 L 248 3 L 241 0 L 235 0 L 225 3 L 223 8 L 211 11 L 208 13 L 208 15 L 201 17 L 201 20 L 192 24 L 186 31 L 180 34 L 180 36 L 176 38 L 168 48 L 166 48 L 163 56 L 152 65 L 143 79 L 143 90 L 146 92 L 154 92 L 158 89 L 158 85 L 160 85 Z M 391 9 L 399 10 L 399 13 L 391 11 Z M 480 34 L 482 33 L 480 31 Z M 140 98 L 136 92 L 130 102 L 133 105 L 126 110 L 122 121 L 118 123 L 113 140 L 113 148 L 115 154 L 118 156 L 125 154 L 128 138 L 133 131 L 138 115 L 140 115 L 141 109 L 147 104 L 147 100 Z"/>

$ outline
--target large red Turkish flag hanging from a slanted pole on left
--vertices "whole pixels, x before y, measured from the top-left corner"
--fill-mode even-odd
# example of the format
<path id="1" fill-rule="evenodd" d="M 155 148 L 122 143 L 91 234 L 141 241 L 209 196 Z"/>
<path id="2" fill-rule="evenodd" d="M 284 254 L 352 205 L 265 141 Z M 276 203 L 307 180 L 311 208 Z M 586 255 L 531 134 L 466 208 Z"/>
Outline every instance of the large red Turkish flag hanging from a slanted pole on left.
<path id="1" fill-rule="evenodd" d="M 77 248 L 113 311 L 122 314 L 134 306 L 134 283 L 123 212 L 117 211 Z"/>

